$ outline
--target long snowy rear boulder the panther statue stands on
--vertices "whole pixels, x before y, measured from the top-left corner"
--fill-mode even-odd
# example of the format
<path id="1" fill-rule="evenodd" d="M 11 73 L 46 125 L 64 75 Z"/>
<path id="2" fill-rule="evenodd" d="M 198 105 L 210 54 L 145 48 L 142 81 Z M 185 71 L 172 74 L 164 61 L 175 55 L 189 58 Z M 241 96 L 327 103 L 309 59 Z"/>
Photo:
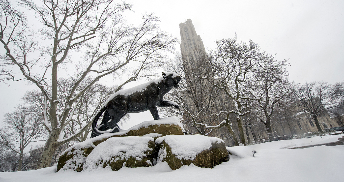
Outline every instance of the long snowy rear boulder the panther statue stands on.
<path id="1" fill-rule="evenodd" d="M 177 117 L 144 121 L 128 130 L 122 130 L 117 133 L 104 133 L 97 137 L 77 143 L 66 149 L 58 160 L 57 171 L 61 169 L 72 169 L 78 172 L 82 171 L 83 164 L 85 163 L 88 154 L 92 152 L 99 143 L 102 143 L 111 137 L 150 136 L 156 139 L 160 136 L 171 134 L 184 135 L 184 129 L 181 125 L 180 119 Z"/>

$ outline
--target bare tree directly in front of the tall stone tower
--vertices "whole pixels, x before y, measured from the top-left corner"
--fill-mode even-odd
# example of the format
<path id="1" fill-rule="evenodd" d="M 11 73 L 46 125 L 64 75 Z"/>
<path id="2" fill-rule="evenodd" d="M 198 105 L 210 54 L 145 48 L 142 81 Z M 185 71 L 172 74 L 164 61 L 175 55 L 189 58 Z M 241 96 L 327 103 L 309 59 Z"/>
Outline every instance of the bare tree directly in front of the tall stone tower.
<path id="1" fill-rule="evenodd" d="M 196 47 L 193 54 L 177 55 L 171 65 L 171 71 L 176 71 L 182 80 L 178 90 L 173 90 L 166 97 L 179 100 L 180 110 L 171 108 L 161 109 L 165 115 L 179 115 L 182 118 L 186 133 L 209 135 L 214 128 L 206 128 L 202 124 L 213 125 L 221 122 L 225 117 L 213 115 L 220 110 L 233 107 L 223 93 L 214 92 L 211 84 L 203 77 L 214 75 L 211 68 L 212 55 L 207 54 L 200 47 Z"/>

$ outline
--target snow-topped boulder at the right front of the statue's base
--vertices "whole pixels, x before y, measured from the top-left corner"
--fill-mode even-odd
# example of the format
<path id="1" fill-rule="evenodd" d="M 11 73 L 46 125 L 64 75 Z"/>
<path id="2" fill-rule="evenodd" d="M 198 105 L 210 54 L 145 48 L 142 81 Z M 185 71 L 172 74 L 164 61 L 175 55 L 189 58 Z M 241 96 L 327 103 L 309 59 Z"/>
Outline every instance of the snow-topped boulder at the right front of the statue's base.
<path id="1" fill-rule="evenodd" d="M 182 165 L 213 168 L 228 161 L 225 142 L 219 138 L 203 135 L 167 135 L 155 140 L 157 162 L 166 161 L 172 170 Z"/>

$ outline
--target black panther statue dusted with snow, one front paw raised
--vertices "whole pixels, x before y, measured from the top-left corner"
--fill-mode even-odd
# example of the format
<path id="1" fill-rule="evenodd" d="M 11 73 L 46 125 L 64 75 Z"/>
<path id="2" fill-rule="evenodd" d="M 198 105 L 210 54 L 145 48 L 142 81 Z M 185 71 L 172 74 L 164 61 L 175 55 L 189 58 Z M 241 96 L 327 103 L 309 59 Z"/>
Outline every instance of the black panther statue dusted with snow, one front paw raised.
<path id="1" fill-rule="evenodd" d="M 158 120 L 160 117 L 157 107 L 172 106 L 179 109 L 178 104 L 174 101 L 163 100 L 162 98 L 173 87 L 179 87 L 180 79 L 180 75 L 176 72 L 162 72 L 162 77 L 159 79 L 129 89 L 119 90 L 111 95 L 92 121 L 91 138 L 102 133 L 119 132 L 117 123 L 127 113 L 140 113 L 149 110 L 154 120 Z M 103 113 L 103 120 L 97 126 L 97 121 Z M 108 129 L 112 130 L 106 131 Z"/>

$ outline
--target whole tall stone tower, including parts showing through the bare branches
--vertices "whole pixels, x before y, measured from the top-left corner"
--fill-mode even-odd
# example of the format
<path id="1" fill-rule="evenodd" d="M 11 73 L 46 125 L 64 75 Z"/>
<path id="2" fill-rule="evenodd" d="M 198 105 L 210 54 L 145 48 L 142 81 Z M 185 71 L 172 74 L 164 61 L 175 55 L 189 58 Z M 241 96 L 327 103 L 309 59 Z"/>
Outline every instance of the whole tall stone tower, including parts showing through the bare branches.
<path id="1" fill-rule="evenodd" d="M 215 99 L 212 97 L 204 96 L 204 93 L 207 93 L 207 91 L 204 90 L 204 88 L 206 88 L 206 86 L 204 85 L 207 85 L 207 82 L 198 79 L 197 76 L 208 78 L 214 76 L 213 70 L 210 69 L 211 60 L 209 60 L 201 36 L 197 35 L 195 26 L 192 24 L 191 19 L 187 19 L 186 22 L 180 23 L 179 29 L 181 36 L 180 50 L 183 60 L 183 71 L 185 75 L 190 76 L 189 79 L 186 79 L 185 85 L 186 87 L 188 87 L 188 90 L 193 90 L 191 95 L 190 93 L 184 93 L 184 106 L 187 106 L 188 109 L 193 110 L 195 112 L 197 112 L 197 107 L 200 107 L 202 104 L 205 104 L 205 107 L 207 107 L 207 104 L 211 102 L 214 102 L 214 105 L 212 107 L 218 106 L 218 108 L 215 109 L 216 111 L 219 109 L 225 109 L 224 107 L 222 107 L 222 104 L 227 104 L 226 107 L 234 107 L 233 101 L 228 100 L 224 93 L 216 95 Z M 208 69 L 203 69 L 206 67 Z M 199 68 L 202 68 L 202 71 L 200 71 Z M 213 100 L 209 100 L 208 102 L 207 99 L 209 98 L 212 98 Z M 197 103 L 197 106 L 195 103 Z M 208 114 L 209 116 L 211 116 L 213 113 Z M 202 119 L 200 119 L 198 122 L 207 122 L 208 125 L 217 125 L 220 121 L 224 119 L 218 118 L 217 120 L 209 120 L 209 116 L 203 116 Z M 200 130 L 201 131 L 191 127 L 190 133 L 206 133 L 203 129 Z M 221 138 L 225 141 L 226 145 L 232 145 L 232 139 L 228 138 L 229 132 L 228 130 L 226 130 L 226 128 L 215 129 L 211 133 L 209 133 L 208 136 Z"/>

